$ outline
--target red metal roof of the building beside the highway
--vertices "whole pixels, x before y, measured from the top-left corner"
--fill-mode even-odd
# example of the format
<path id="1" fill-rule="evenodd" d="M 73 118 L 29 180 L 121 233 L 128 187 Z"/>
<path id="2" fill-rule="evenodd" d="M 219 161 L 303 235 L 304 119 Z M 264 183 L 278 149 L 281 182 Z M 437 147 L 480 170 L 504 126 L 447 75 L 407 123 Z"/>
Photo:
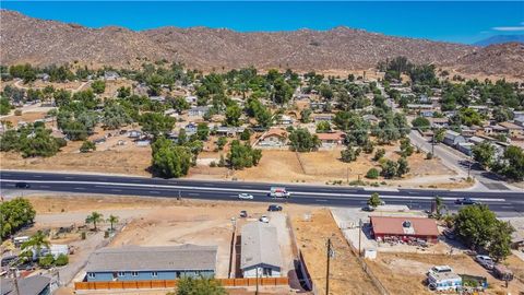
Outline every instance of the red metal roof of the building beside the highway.
<path id="1" fill-rule="evenodd" d="M 438 236 L 439 229 L 434 220 L 424 217 L 388 217 L 370 216 L 373 233 L 376 235 L 401 235 L 401 236 Z M 410 222 L 413 232 L 405 231 L 403 223 Z"/>

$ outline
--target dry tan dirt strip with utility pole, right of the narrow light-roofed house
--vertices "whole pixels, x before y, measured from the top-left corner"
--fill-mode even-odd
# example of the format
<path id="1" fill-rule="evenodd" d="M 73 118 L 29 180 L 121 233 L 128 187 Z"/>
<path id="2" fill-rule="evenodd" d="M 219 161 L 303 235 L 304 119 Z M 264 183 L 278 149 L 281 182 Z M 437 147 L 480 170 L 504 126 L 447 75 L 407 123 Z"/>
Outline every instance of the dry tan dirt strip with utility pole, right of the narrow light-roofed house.
<path id="1" fill-rule="evenodd" d="M 327 210 L 315 210 L 310 221 L 297 215 L 293 227 L 299 249 L 319 294 L 325 293 L 326 240 L 331 238 L 335 258 L 331 261 L 330 294 L 379 294 L 356 261 Z"/>

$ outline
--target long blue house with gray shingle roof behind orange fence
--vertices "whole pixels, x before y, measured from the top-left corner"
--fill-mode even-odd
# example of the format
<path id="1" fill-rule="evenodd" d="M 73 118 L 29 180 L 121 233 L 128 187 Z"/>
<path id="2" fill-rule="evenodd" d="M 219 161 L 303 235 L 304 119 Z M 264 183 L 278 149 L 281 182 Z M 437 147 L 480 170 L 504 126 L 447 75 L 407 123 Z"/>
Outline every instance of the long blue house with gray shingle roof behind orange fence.
<path id="1" fill-rule="evenodd" d="M 87 282 L 154 281 L 211 278 L 216 271 L 216 246 L 162 246 L 103 248 L 85 267 Z"/>

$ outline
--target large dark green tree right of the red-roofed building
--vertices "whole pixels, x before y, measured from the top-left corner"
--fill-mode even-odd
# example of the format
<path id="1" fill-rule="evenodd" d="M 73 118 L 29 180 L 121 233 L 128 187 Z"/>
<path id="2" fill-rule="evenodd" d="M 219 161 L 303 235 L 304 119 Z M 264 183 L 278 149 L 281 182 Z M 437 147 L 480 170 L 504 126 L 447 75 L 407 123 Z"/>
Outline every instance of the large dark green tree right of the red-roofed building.
<path id="1" fill-rule="evenodd" d="M 499 221 L 487 205 L 464 206 L 454 217 L 455 233 L 471 248 L 488 251 L 496 261 L 511 252 L 511 234 L 515 231 L 509 222 Z"/>

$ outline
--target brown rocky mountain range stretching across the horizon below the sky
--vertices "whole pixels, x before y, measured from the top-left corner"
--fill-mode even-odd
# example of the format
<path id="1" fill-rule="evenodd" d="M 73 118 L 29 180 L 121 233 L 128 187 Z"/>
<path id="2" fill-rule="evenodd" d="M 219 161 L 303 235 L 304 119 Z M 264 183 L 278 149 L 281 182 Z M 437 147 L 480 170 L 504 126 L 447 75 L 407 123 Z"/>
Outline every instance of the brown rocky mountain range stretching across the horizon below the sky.
<path id="1" fill-rule="evenodd" d="M 135 67 L 144 61 L 181 61 L 201 70 L 254 66 L 259 69 L 290 68 L 298 71 L 366 70 L 386 58 L 406 56 L 412 61 L 458 67 L 464 71 L 496 72 L 524 76 L 524 62 L 511 50 L 504 52 L 512 68 L 489 69 L 476 58 L 488 48 L 426 39 L 403 38 L 362 30 L 299 30 L 276 33 L 239 33 L 206 27 L 160 27 L 134 32 L 123 27 L 90 28 L 78 24 L 44 21 L 1 10 L 0 62 L 80 62 L 91 67 Z M 515 52 L 516 55 L 521 54 Z M 514 61 L 512 61 L 514 60 Z M 477 62 L 478 67 L 468 67 Z"/>

